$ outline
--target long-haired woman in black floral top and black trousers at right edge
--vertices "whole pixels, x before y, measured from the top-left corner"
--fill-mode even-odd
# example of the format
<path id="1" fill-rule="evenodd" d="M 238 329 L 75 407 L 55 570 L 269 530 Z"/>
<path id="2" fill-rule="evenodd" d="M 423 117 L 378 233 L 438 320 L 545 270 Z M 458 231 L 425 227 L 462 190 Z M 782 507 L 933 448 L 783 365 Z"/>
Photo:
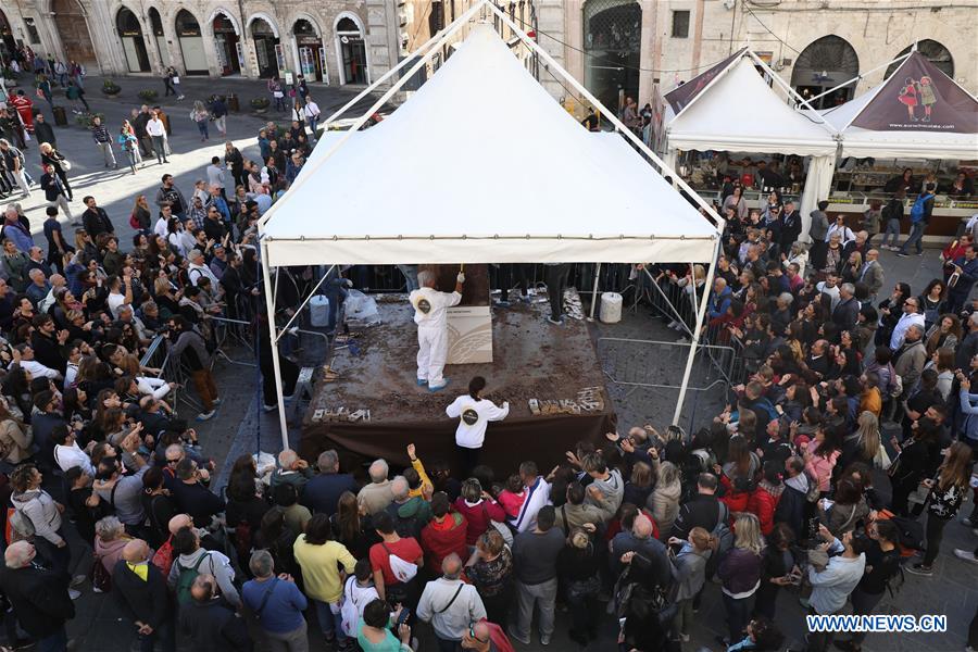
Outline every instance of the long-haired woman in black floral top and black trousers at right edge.
<path id="1" fill-rule="evenodd" d="M 962 386 L 962 391 L 968 388 Z M 941 538 L 944 526 L 948 525 L 961 510 L 968 482 L 971 479 L 971 447 L 963 441 L 955 441 L 944 454 L 944 463 L 938 469 L 933 479 L 926 479 L 921 484 L 930 489 L 927 497 L 927 552 L 924 560 L 904 569 L 914 575 L 930 577 L 933 575 L 933 560 L 941 549 Z"/>

